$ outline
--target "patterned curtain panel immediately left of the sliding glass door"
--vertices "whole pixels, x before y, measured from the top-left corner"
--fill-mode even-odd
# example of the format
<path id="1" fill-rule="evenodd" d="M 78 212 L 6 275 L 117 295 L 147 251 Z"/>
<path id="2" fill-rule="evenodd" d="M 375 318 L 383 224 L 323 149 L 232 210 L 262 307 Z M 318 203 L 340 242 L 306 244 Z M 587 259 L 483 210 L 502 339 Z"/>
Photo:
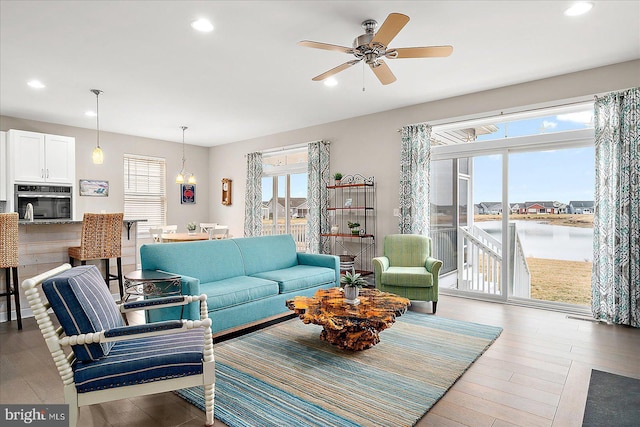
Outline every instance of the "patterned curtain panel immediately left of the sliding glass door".
<path id="1" fill-rule="evenodd" d="M 399 230 L 428 236 L 431 126 L 404 126 L 401 150 Z"/>

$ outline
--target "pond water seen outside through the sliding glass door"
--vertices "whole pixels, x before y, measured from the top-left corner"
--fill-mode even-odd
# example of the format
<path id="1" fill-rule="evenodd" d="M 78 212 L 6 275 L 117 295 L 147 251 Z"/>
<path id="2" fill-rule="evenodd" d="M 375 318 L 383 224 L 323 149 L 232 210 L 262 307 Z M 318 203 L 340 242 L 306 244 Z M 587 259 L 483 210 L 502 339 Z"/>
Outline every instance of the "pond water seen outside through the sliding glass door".
<path id="1" fill-rule="evenodd" d="M 593 261 L 593 229 L 550 225 L 536 221 L 512 221 L 526 257 L 565 261 Z M 496 239 L 502 237 L 501 221 L 476 222 Z"/>

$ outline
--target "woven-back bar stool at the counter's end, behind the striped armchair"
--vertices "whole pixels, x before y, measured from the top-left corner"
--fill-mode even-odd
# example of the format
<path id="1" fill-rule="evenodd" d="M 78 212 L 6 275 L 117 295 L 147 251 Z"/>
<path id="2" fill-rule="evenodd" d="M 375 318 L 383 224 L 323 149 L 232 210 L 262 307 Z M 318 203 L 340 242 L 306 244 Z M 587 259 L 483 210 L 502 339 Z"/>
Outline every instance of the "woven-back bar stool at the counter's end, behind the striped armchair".
<path id="1" fill-rule="evenodd" d="M 69 248 L 69 263 L 74 259 L 85 265 L 89 260 L 102 259 L 105 263 L 104 281 L 109 287 L 111 280 L 118 281 L 120 298 L 124 297 L 122 281 L 122 218 L 123 213 L 85 213 L 82 218 L 80 246 Z M 118 274 L 109 272 L 109 259 L 116 258 Z"/>

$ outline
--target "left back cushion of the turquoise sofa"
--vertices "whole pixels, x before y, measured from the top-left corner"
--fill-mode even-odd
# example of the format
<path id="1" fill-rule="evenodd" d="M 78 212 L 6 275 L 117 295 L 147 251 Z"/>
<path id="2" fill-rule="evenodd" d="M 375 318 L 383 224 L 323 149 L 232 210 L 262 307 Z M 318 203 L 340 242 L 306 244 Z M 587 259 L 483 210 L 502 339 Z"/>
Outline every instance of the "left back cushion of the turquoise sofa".
<path id="1" fill-rule="evenodd" d="M 143 270 L 195 277 L 200 283 L 245 274 L 240 250 L 230 239 L 143 245 L 140 260 Z"/>

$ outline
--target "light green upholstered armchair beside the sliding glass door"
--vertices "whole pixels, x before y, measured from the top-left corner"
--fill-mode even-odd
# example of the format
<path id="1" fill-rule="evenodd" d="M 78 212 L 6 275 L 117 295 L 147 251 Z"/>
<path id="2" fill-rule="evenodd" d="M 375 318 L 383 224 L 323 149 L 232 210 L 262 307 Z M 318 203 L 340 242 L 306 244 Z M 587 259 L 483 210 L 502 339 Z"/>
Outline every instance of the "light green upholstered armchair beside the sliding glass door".
<path id="1" fill-rule="evenodd" d="M 442 261 L 431 256 L 431 238 L 391 234 L 384 238 L 384 256 L 373 259 L 376 288 L 411 300 L 438 304 L 438 275 Z"/>

